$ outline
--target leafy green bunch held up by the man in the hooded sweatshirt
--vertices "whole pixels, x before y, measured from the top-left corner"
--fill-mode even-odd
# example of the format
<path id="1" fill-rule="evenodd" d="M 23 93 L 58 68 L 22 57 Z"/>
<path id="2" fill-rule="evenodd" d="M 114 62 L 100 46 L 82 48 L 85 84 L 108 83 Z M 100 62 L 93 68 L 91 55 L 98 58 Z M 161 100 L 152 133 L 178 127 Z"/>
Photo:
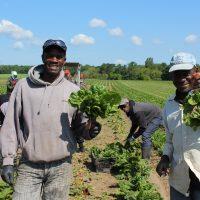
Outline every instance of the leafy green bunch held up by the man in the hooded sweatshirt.
<path id="1" fill-rule="evenodd" d="M 108 91 L 103 85 L 92 85 L 89 89 L 81 89 L 70 95 L 69 103 L 85 113 L 89 118 L 98 116 L 106 118 L 118 109 L 121 96 Z"/>

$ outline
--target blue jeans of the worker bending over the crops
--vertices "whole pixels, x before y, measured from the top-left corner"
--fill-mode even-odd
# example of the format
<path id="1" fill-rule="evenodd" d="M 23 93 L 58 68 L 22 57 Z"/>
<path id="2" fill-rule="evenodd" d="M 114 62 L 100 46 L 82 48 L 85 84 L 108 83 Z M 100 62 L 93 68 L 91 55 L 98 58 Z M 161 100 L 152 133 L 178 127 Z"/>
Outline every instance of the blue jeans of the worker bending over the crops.
<path id="1" fill-rule="evenodd" d="M 155 117 L 148 125 L 145 131 L 142 133 L 142 147 L 152 146 L 151 136 L 163 123 L 162 117 Z"/>

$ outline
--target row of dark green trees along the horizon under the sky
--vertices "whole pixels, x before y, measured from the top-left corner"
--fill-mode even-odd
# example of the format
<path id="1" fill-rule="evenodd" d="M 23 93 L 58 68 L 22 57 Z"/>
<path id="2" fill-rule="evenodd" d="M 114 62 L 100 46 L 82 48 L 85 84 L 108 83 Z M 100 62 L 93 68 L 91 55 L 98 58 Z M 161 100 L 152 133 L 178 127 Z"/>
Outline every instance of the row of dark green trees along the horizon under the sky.
<path id="1" fill-rule="evenodd" d="M 27 74 L 30 66 L 2 65 L 0 74 L 9 74 L 15 70 Z M 81 73 L 85 78 L 109 80 L 169 80 L 169 66 L 166 63 L 154 63 L 153 58 L 146 59 L 144 65 L 130 62 L 127 65 L 103 63 L 100 66 L 83 65 Z"/>

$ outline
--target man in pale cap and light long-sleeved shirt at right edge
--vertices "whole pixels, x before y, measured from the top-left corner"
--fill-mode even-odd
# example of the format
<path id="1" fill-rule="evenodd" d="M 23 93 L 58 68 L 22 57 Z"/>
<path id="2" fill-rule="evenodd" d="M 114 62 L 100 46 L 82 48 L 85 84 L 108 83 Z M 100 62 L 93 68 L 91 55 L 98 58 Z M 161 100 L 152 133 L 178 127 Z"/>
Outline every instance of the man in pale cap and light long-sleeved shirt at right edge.
<path id="1" fill-rule="evenodd" d="M 198 71 L 192 54 L 177 53 L 171 59 L 169 72 L 176 87 L 163 110 L 166 144 L 163 156 L 156 168 L 157 173 L 169 174 L 170 200 L 200 199 L 200 129 L 194 131 L 183 123 L 185 97 L 199 87 L 192 83 Z"/>

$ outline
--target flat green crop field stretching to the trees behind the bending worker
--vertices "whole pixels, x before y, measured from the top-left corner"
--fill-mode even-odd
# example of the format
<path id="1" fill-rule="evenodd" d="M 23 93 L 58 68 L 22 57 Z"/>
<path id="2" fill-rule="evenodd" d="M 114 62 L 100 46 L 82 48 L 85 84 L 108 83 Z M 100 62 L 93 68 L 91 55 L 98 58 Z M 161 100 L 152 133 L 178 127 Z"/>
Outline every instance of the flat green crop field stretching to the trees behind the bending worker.
<path id="1" fill-rule="evenodd" d="M 134 101 L 150 102 L 163 107 L 167 98 L 174 93 L 175 88 L 171 81 L 135 81 L 135 80 L 94 80 L 87 84 L 102 84 L 110 90 L 115 90 L 122 97 Z"/>

